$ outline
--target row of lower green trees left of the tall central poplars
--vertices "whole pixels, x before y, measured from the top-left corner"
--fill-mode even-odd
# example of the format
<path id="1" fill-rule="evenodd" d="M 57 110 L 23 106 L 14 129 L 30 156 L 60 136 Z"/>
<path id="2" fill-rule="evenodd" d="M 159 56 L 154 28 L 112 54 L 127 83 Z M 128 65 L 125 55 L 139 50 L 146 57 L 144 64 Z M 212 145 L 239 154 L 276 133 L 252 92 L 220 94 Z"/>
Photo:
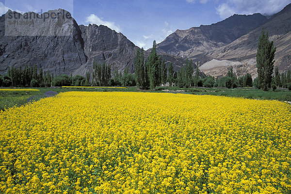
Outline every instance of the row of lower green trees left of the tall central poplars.
<path id="1" fill-rule="evenodd" d="M 113 76 L 112 76 L 113 75 Z M 5 75 L 0 75 L 0 87 L 51 87 L 51 86 L 135 86 L 135 75 L 129 73 L 127 67 L 123 74 L 116 69 L 111 73 L 111 66 L 93 62 L 93 73 L 81 75 L 61 74 L 54 76 L 42 68 L 8 67 Z"/>

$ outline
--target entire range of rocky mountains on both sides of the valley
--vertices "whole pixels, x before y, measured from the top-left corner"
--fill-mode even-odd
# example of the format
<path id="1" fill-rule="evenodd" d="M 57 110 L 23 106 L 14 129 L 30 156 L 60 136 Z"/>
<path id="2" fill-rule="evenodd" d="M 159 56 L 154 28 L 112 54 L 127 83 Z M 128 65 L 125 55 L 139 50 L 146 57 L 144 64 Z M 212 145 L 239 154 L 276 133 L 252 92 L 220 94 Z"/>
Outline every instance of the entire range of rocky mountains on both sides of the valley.
<path id="1" fill-rule="evenodd" d="M 53 12 L 67 13 L 62 9 L 48 11 Z M 122 33 L 103 25 L 78 25 L 74 18 L 49 18 L 51 26 L 65 26 L 65 30 L 54 28 L 52 34 L 46 35 L 43 26 L 35 23 L 29 29 L 32 35 L 7 36 L 5 17 L 15 13 L 9 10 L 0 16 L 0 74 L 6 73 L 8 66 L 36 64 L 55 75 L 85 75 L 93 70 L 93 61 L 111 64 L 112 70 L 123 71 L 129 67 L 130 72 L 134 71 L 135 53 L 139 48 Z M 277 47 L 275 65 L 280 72 L 287 71 L 291 68 L 291 4 L 271 17 L 233 15 L 215 24 L 177 30 L 157 45 L 157 52 L 167 64 L 172 62 L 175 70 L 188 58 L 199 61 L 199 69 L 206 75 L 224 76 L 233 66 L 237 76 L 251 73 L 255 78 L 257 44 L 263 28 Z M 65 34 L 56 35 L 61 32 Z M 150 49 L 145 51 L 145 56 L 149 52 Z"/>

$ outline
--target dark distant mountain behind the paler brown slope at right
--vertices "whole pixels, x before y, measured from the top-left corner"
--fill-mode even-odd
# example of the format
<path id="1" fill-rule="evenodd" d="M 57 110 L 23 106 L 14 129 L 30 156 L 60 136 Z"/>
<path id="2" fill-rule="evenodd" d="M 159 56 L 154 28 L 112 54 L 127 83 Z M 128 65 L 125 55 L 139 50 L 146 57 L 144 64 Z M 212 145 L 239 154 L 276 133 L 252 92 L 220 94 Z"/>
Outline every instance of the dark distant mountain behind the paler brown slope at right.
<path id="1" fill-rule="evenodd" d="M 216 24 L 177 30 L 158 44 L 157 50 L 189 58 L 225 46 L 266 21 L 261 14 L 233 15 Z"/>

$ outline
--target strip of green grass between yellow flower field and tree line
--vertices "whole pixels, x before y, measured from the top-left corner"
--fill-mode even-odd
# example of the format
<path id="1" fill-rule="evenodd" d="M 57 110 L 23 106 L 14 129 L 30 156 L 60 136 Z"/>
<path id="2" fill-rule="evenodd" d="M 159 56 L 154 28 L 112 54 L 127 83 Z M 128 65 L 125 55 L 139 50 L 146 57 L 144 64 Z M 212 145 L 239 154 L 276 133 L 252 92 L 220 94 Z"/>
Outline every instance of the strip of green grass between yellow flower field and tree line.
<path id="1" fill-rule="evenodd" d="M 26 89 L 26 88 L 24 88 Z M 56 93 L 69 91 L 96 91 L 96 92 L 171 92 L 185 93 L 194 95 L 215 95 L 228 97 L 244 97 L 251 99 L 274 99 L 279 101 L 291 101 L 290 90 L 276 90 L 264 92 L 254 88 L 179 88 L 179 87 L 157 87 L 155 91 L 138 90 L 136 87 L 124 88 L 38 88 L 39 92 L 26 91 L 0 91 L 0 110 L 8 109 L 14 106 L 21 106 L 28 102 L 28 99 L 39 100 L 46 97 L 44 94 L 48 91 Z"/>

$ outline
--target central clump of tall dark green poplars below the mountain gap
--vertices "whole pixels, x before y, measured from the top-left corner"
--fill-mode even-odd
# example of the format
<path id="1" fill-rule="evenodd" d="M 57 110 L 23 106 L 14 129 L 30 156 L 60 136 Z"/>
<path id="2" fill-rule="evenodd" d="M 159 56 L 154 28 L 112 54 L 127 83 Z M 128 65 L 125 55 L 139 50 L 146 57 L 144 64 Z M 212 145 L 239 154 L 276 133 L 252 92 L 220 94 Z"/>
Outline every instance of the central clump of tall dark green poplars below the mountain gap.
<path id="1" fill-rule="evenodd" d="M 199 79 L 198 63 L 195 76 L 192 60 L 186 60 L 185 66 L 174 71 L 174 66 L 169 63 L 166 66 L 165 60 L 156 51 L 156 41 L 147 59 L 144 57 L 144 49 L 138 49 L 134 60 L 135 82 L 139 89 L 155 89 L 156 86 L 173 84 L 179 87 L 196 86 Z"/>

